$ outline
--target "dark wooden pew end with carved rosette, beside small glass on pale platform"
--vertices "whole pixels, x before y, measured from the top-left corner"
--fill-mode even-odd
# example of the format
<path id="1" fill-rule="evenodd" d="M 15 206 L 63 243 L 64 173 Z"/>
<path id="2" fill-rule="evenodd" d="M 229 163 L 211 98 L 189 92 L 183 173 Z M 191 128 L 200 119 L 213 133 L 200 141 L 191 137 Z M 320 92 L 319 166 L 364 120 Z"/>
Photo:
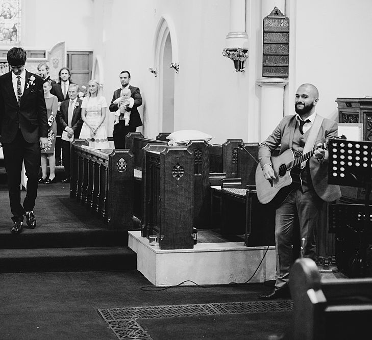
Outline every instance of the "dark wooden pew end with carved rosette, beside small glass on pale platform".
<path id="1" fill-rule="evenodd" d="M 149 143 L 143 149 L 142 224 L 146 236 L 158 235 L 160 249 L 193 248 L 190 216 L 194 216 L 195 168 L 199 167 L 193 144 Z"/>

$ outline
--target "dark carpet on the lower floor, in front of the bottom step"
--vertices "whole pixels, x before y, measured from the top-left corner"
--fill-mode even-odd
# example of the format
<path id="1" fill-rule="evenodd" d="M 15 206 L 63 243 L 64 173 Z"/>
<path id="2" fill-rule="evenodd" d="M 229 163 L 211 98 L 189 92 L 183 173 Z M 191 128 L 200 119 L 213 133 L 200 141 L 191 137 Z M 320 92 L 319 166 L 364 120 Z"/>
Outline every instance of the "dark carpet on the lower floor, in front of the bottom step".
<path id="1" fill-rule="evenodd" d="M 4 273 L 0 281 L 3 340 L 279 339 L 291 320 L 290 300 L 258 299 L 268 283 L 149 291 L 141 290 L 152 284 L 136 270 Z M 191 313 L 180 311 L 185 305 L 192 305 Z M 114 332 L 100 312 L 113 308 L 145 309 L 147 314 L 131 317 L 145 335 L 134 334 L 133 327 L 123 331 L 122 323 Z"/>

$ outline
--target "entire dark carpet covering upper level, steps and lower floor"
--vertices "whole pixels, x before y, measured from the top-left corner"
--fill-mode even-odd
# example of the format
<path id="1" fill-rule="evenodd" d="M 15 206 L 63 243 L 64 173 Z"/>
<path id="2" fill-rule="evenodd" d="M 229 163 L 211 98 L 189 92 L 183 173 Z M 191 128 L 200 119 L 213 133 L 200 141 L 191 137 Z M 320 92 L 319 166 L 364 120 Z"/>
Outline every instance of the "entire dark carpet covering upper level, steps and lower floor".
<path id="1" fill-rule="evenodd" d="M 120 338 L 275 339 L 288 329 L 290 300 L 278 300 L 283 308 L 276 301 L 275 310 L 272 305 L 271 310 L 257 309 L 263 303 L 258 294 L 272 282 L 141 289 L 157 287 L 135 270 L 127 232 L 106 229 L 68 194 L 68 185 L 40 185 L 37 227 L 13 235 L 7 187 L 0 184 L 0 339 L 117 339 L 102 310 L 150 308 L 157 313 L 159 306 L 172 311 L 185 305 L 196 313 L 142 314 L 135 323 L 144 337 L 121 328 Z M 200 305 L 218 311 L 216 304 L 242 303 L 256 310 L 197 313 Z"/>

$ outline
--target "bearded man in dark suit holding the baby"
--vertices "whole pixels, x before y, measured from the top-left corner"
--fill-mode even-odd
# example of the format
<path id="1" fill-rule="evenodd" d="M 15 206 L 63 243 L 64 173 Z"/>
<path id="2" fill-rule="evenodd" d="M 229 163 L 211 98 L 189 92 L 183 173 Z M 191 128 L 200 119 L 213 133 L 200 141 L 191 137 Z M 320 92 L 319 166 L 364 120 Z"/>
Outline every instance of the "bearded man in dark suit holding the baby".
<path id="1" fill-rule="evenodd" d="M 131 81 L 131 74 L 129 73 L 129 71 L 121 71 L 119 77 L 121 88 L 114 91 L 114 95 L 109 107 L 110 111 L 116 112 L 117 110 L 119 110 L 120 105 L 123 103 L 123 101 L 121 100 L 117 104 L 114 103 L 114 101 L 117 98 L 122 97 L 122 90 L 127 88 L 130 89 L 131 98 L 134 99 L 134 102 L 132 101 L 126 108 L 126 110 L 130 112 L 129 126 L 126 126 L 124 119 L 119 120 L 119 122 L 114 125 L 114 132 L 112 134 L 114 138 L 115 149 L 125 149 L 126 136 L 128 135 L 128 133 L 136 132 L 137 126 L 142 125 L 141 117 L 139 116 L 139 112 L 137 110 L 137 108 L 142 105 L 142 97 L 138 87 L 129 85 Z"/>

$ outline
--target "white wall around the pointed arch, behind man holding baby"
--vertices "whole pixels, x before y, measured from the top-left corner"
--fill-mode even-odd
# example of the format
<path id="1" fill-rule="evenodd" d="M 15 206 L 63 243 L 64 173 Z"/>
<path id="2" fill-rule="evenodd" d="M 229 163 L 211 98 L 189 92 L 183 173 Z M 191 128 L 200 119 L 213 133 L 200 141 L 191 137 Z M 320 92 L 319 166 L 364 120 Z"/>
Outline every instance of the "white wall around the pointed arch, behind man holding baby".
<path id="1" fill-rule="evenodd" d="M 140 113 L 148 137 L 159 133 L 158 79 L 148 68 L 158 68 L 153 60 L 154 35 L 160 18 L 166 16 L 174 23 L 179 47 L 175 130 L 199 129 L 213 135 L 214 143 L 247 140 L 249 72 L 235 72 L 233 62 L 222 56 L 229 33 L 229 0 L 102 0 L 94 6 L 105 7 L 104 41 L 97 39 L 94 48 L 95 54 L 103 54 L 105 96 L 111 99 L 119 87 L 120 70 L 130 70 L 131 84 L 144 98 Z"/>

